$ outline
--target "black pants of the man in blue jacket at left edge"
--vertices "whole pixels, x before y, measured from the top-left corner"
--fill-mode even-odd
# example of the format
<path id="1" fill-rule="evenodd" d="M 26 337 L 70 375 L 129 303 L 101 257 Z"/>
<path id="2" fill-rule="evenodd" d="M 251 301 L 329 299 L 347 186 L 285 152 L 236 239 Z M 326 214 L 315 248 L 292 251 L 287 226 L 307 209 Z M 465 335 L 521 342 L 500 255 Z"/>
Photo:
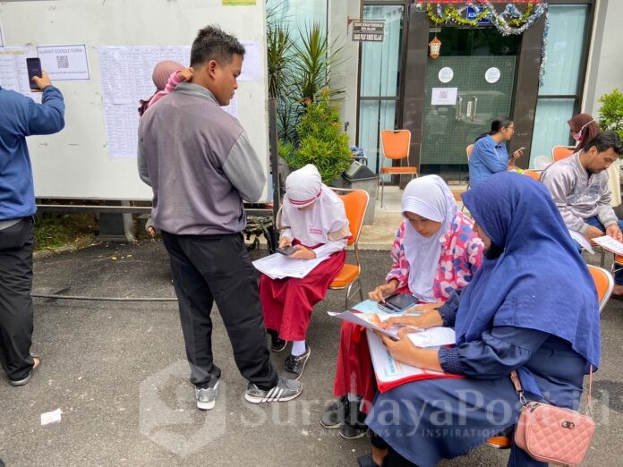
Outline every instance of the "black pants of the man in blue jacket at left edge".
<path id="1" fill-rule="evenodd" d="M 25 378 L 32 344 L 32 217 L 0 230 L 0 362 L 9 378 Z"/>

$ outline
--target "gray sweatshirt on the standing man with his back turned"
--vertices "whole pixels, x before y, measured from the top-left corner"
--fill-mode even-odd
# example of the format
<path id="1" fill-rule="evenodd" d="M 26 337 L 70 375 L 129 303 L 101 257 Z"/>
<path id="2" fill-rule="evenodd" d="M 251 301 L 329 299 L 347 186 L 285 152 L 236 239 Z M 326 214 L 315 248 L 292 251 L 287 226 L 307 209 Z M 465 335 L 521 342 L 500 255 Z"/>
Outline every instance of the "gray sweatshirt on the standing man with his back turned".
<path id="1" fill-rule="evenodd" d="M 186 82 L 141 117 L 138 165 L 154 192 L 154 224 L 169 234 L 240 232 L 243 199 L 260 200 L 266 183 L 240 123 Z"/>

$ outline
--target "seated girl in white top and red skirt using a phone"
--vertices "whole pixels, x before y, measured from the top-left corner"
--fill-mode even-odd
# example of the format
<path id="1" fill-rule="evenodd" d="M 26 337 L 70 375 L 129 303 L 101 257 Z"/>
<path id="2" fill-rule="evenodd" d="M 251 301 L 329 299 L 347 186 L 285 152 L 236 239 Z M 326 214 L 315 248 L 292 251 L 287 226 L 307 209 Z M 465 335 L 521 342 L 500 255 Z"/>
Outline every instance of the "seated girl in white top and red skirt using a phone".
<path id="1" fill-rule="evenodd" d="M 298 379 L 311 353 L 305 342 L 311 311 L 344 266 L 350 237 L 344 202 L 322 183 L 315 166 L 303 166 L 287 176 L 277 228 L 281 231 L 279 247 L 294 245 L 295 252 L 288 259 L 329 257 L 302 279 L 260 276 L 261 306 L 271 348 L 281 352 L 287 341 L 293 341 L 285 368 L 290 378 Z"/>

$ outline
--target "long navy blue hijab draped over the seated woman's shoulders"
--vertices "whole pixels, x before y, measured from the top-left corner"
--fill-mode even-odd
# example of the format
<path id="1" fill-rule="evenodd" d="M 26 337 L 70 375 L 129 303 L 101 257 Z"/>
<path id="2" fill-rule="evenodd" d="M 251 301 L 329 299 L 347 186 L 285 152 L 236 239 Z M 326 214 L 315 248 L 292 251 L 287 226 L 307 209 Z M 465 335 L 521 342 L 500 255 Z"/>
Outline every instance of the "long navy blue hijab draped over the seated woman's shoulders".
<path id="1" fill-rule="evenodd" d="M 547 188 L 527 176 L 493 174 L 466 191 L 463 201 L 504 252 L 483 259 L 465 289 L 457 344 L 478 340 L 496 326 L 536 329 L 565 339 L 596 369 L 597 291 Z"/>

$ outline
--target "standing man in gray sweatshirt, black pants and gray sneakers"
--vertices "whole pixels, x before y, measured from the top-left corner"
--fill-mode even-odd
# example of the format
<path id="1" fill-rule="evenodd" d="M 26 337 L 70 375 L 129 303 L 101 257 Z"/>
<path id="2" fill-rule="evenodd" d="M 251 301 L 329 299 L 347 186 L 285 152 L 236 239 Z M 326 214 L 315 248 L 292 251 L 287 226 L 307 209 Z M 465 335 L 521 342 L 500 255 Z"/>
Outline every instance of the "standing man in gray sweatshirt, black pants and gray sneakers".
<path id="1" fill-rule="evenodd" d="M 244 47 L 208 26 L 192 43 L 192 80 L 142 116 L 139 173 L 153 189 L 152 217 L 171 260 L 186 356 L 197 407 L 214 407 L 220 369 L 212 358 L 214 301 L 249 380 L 251 403 L 288 401 L 298 381 L 277 376 L 270 362 L 257 276 L 241 231 L 243 200 L 257 201 L 266 176 L 238 121 L 220 106 L 238 88 Z"/>

